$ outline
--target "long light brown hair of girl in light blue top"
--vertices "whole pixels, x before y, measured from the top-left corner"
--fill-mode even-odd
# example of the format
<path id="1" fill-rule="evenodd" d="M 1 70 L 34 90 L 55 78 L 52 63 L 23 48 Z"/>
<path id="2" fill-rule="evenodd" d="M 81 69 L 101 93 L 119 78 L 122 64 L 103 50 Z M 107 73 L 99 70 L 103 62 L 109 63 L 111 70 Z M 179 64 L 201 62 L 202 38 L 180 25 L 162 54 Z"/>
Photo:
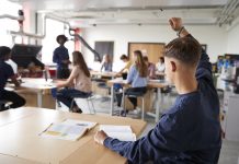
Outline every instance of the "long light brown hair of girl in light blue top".
<path id="1" fill-rule="evenodd" d="M 137 57 L 135 65 L 136 65 L 136 69 L 139 72 L 139 77 L 143 77 L 143 78 L 147 77 L 148 75 L 148 67 L 143 59 L 141 51 L 135 50 L 134 55 Z"/>

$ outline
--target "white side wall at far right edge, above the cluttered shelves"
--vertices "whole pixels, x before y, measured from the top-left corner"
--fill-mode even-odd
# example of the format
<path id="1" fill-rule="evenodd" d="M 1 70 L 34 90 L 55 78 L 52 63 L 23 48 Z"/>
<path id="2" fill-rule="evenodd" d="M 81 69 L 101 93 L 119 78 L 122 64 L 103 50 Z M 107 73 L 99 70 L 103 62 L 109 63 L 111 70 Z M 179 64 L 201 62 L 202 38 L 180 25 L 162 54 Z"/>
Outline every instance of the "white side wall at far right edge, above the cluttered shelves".
<path id="1" fill-rule="evenodd" d="M 228 31 L 227 54 L 239 54 L 239 23 Z"/>

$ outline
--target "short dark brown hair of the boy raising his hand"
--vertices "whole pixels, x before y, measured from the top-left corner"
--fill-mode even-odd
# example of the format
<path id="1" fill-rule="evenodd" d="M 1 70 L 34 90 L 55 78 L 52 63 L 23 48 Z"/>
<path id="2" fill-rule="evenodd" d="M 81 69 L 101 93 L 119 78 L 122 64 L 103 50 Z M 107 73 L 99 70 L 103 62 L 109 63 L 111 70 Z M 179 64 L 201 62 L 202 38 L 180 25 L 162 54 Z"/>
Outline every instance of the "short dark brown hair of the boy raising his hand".
<path id="1" fill-rule="evenodd" d="M 164 48 L 164 57 L 195 67 L 201 57 L 202 47 L 191 37 L 179 37 L 170 42 Z"/>

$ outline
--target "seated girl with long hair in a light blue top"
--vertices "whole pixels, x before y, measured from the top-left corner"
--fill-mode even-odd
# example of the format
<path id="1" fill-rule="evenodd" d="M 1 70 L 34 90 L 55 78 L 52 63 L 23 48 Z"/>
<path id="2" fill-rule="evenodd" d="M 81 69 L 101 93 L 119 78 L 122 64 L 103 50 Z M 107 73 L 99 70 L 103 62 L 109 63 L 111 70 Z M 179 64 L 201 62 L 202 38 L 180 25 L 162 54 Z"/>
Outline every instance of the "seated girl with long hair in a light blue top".
<path id="1" fill-rule="evenodd" d="M 127 83 L 132 84 L 132 87 L 127 89 L 125 93 L 127 92 L 146 93 L 148 69 L 147 69 L 147 65 L 143 59 L 143 55 L 140 50 L 134 51 L 134 60 L 135 63 L 130 67 L 127 75 Z M 128 99 L 134 105 L 134 109 L 136 109 L 137 97 L 128 97 Z"/>

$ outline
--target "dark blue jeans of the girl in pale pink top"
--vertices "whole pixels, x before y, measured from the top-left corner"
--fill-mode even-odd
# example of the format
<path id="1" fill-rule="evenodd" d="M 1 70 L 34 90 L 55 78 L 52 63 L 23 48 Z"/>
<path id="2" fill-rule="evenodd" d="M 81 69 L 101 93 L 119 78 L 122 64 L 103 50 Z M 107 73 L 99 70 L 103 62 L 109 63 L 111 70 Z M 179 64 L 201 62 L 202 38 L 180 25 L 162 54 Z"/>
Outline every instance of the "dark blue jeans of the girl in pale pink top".
<path id="1" fill-rule="evenodd" d="M 86 93 L 76 89 L 62 89 L 57 92 L 56 98 L 57 101 L 64 103 L 67 107 L 70 108 L 71 102 L 73 97 L 87 97 L 90 93 Z M 73 107 L 78 106 L 73 101 Z"/>

